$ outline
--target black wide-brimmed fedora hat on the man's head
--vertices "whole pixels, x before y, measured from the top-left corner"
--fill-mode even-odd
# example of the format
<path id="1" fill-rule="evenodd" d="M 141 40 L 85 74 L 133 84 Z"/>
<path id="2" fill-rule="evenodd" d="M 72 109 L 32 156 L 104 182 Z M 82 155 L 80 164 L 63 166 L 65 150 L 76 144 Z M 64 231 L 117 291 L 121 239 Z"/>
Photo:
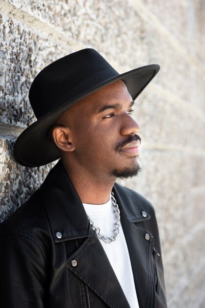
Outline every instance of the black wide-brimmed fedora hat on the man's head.
<path id="1" fill-rule="evenodd" d="M 96 50 L 82 49 L 45 67 L 34 79 L 29 100 L 37 121 L 17 138 L 14 157 L 23 166 L 45 165 L 59 158 L 48 129 L 71 105 L 122 79 L 134 100 L 150 83 L 159 65 L 119 74 Z"/>

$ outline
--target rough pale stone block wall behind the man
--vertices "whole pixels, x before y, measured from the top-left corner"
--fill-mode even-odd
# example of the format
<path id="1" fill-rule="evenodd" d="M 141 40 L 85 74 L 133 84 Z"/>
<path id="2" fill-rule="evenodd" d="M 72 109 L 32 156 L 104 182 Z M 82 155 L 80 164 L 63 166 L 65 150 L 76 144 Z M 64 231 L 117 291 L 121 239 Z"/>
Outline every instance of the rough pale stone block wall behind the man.
<path id="1" fill-rule="evenodd" d="M 51 168 L 12 155 L 35 121 L 28 89 L 45 65 L 85 47 L 119 72 L 161 65 L 136 101 L 143 172 L 122 183 L 154 204 L 170 308 L 205 305 L 204 29 L 203 0 L 0 0 L 0 221 Z"/>

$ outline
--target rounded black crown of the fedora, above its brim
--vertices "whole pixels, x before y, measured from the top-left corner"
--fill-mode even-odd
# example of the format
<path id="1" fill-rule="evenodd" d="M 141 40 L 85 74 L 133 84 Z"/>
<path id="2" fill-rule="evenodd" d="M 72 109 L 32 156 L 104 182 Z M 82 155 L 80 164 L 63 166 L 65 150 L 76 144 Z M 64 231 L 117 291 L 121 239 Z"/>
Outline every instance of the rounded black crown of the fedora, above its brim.
<path id="1" fill-rule="evenodd" d="M 94 49 L 86 48 L 46 66 L 34 79 L 29 100 L 37 119 L 118 72 Z"/>

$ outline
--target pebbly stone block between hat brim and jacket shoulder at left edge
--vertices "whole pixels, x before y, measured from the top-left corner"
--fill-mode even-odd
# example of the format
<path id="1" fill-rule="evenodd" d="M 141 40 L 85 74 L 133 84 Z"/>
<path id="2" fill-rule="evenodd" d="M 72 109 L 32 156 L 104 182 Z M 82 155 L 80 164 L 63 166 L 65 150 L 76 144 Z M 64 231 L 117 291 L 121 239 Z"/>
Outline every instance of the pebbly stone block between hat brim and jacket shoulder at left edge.
<path id="1" fill-rule="evenodd" d="M 25 203 L 42 184 L 53 165 L 23 167 L 13 158 L 13 142 L 0 139 L 0 222 Z"/>

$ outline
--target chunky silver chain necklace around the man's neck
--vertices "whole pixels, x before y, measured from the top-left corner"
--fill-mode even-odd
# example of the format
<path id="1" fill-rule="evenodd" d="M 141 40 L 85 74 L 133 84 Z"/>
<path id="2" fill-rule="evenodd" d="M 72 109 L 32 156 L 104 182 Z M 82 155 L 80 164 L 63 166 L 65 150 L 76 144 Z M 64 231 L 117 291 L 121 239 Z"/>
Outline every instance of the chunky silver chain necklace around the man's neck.
<path id="1" fill-rule="evenodd" d="M 120 228 L 120 210 L 117 204 L 117 201 L 114 197 L 114 193 L 111 191 L 111 202 L 112 202 L 112 208 L 113 208 L 113 213 L 115 215 L 115 230 L 113 231 L 113 235 L 111 237 L 108 237 L 106 235 L 101 234 L 101 229 L 99 227 L 96 227 L 94 225 L 94 222 L 90 219 L 90 217 L 88 216 L 88 219 L 90 221 L 90 224 L 93 228 L 93 230 L 95 231 L 95 233 L 97 234 L 98 238 L 100 240 L 102 240 L 103 242 L 105 242 L 106 244 L 110 244 L 112 242 L 114 242 L 116 240 L 116 237 L 119 233 L 119 228 Z"/>

